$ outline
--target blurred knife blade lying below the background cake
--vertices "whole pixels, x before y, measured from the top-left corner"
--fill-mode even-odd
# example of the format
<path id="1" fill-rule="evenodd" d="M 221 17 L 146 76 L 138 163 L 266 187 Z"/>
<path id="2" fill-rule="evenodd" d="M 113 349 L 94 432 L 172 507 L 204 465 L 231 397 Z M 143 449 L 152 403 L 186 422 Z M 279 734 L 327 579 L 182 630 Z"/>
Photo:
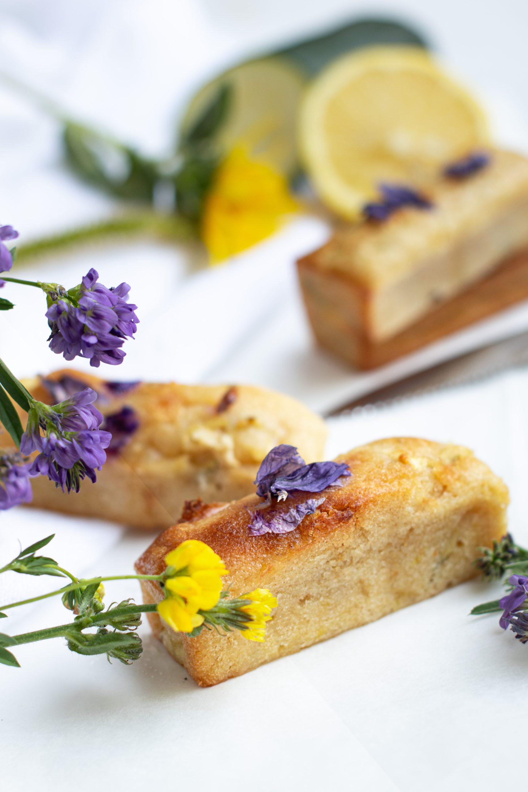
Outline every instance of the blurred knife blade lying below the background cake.
<path id="1" fill-rule="evenodd" d="M 528 332 L 496 341 L 419 371 L 395 383 L 370 390 L 359 398 L 330 410 L 325 417 L 351 413 L 357 407 L 393 402 L 395 399 L 430 393 L 432 390 L 465 385 L 486 379 L 508 368 L 528 365 Z"/>

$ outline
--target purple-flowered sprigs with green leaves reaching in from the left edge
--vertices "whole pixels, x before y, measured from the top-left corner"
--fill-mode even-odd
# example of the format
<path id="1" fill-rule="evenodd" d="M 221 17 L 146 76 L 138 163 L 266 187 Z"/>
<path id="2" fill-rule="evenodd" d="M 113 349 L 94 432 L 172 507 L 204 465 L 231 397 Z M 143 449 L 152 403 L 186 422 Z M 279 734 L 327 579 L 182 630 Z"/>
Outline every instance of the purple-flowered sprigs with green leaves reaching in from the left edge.
<path id="1" fill-rule="evenodd" d="M 12 226 L 0 225 L 0 272 L 12 268 L 16 251 L 8 249 L 5 242 L 17 236 Z M 45 315 L 51 329 L 47 340 L 53 352 L 66 360 L 84 357 L 96 367 L 123 362 L 122 347 L 127 338 L 134 337 L 139 322 L 137 306 L 128 303 L 128 284 L 108 288 L 99 282 L 93 268 L 70 289 L 61 284 L 2 276 L 0 286 L 8 283 L 44 291 Z M 0 308 L 13 307 L 13 303 L 2 298 Z M 97 398 L 94 390 L 74 388 L 68 395 L 52 406 L 37 401 L 0 360 L 0 424 L 20 449 L 19 453 L 0 447 L 0 510 L 31 501 L 29 479 L 33 476 L 45 475 L 68 492 L 78 492 L 84 478 L 96 481 L 96 470 L 101 470 L 106 461 L 105 449 L 112 433 L 101 428 L 103 417 L 93 406 Z M 25 430 L 15 404 L 28 413 Z M 127 419 L 121 444 L 126 442 L 126 433 L 133 431 L 131 417 Z M 30 461 L 29 456 L 35 452 L 38 454 Z"/>

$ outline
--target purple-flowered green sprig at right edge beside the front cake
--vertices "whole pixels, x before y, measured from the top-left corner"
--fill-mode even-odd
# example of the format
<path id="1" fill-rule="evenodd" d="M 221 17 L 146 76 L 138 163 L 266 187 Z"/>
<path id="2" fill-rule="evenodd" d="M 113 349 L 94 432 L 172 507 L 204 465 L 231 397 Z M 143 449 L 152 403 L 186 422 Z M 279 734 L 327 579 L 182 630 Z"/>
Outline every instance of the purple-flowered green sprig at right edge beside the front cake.
<path id="1" fill-rule="evenodd" d="M 516 544 L 511 534 L 506 534 L 492 548 L 481 547 L 481 556 L 475 565 L 482 570 L 485 580 L 507 578 L 507 593 L 500 600 L 492 600 L 473 607 L 471 615 L 478 616 L 502 611 L 499 624 L 508 627 L 522 643 L 528 642 L 528 550 Z"/>

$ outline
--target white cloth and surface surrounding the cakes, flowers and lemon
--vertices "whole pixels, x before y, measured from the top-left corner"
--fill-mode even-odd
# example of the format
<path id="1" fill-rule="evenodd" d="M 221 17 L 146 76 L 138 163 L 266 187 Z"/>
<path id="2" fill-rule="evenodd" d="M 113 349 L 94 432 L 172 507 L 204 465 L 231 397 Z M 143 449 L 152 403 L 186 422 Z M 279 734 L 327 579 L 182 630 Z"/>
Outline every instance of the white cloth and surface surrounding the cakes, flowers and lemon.
<path id="1" fill-rule="evenodd" d="M 393 15 L 424 29 L 484 98 L 499 139 L 526 150 L 523 0 L 0 0 L 0 71 L 154 154 L 169 150 L 177 113 L 204 78 L 355 13 Z M 63 170 L 54 122 L 1 82 L 0 183 L 0 220 L 23 238 L 114 208 Z M 528 310 L 517 307 L 385 371 L 354 375 L 313 349 L 294 280 L 295 257 L 326 234 L 321 221 L 299 218 L 229 267 L 198 273 L 196 252 L 145 242 L 70 253 L 20 274 L 71 285 L 96 266 L 105 284 L 131 284 L 141 325 L 125 363 L 105 368 L 108 376 L 254 382 L 314 409 L 528 327 Z M 58 367 L 44 341 L 41 295 L 14 286 L 9 294 L 17 310 L 2 318 L 2 357 L 21 376 Z M 527 389 L 526 372 L 511 372 L 330 421 L 328 454 L 397 434 L 468 444 L 511 486 L 511 528 L 526 543 Z M 18 509 L 0 517 L 0 565 L 18 540 L 25 546 L 54 530 L 50 554 L 86 575 L 127 573 L 150 542 L 102 522 Z M 2 604 L 39 585 L 2 578 Z M 112 599 L 131 593 L 128 584 L 108 587 Z M 23 668 L 0 670 L 2 781 L 12 790 L 25 789 L 29 778 L 44 790 L 66 790 L 74 779 L 84 792 L 92 767 L 99 786 L 116 789 L 155 782 L 214 784 L 221 792 L 495 790 L 504 775 L 500 745 L 507 741 L 510 757 L 525 750 L 513 722 L 526 695 L 528 654 L 494 617 L 467 618 L 473 604 L 493 596 L 466 584 L 205 691 L 185 679 L 146 626 L 145 653 L 131 668 L 76 657 L 60 641 L 22 647 Z M 59 623 L 64 613 L 47 602 L 9 624 L 31 630 Z"/>

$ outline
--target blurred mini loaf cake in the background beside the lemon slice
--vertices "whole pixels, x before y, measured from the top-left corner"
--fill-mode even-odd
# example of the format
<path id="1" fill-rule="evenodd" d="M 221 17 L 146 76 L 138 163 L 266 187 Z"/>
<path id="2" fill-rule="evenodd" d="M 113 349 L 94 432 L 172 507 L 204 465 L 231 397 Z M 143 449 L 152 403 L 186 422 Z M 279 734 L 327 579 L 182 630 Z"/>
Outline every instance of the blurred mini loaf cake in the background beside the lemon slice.
<path id="1" fill-rule="evenodd" d="M 431 318 L 434 327 L 425 333 L 417 323 L 512 257 L 526 261 L 528 161 L 501 150 L 485 160 L 474 172 L 440 174 L 425 201 L 341 227 L 298 261 L 306 310 L 322 346 L 359 367 L 386 362 L 458 329 L 449 314 Z M 496 304 L 488 300 L 485 308 L 469 310 L 458 326 L 515 299 L 513 293 L 505 298 L 500 284 L 492 291 Z M 473 303 L 480 299 L 477 293 Z M 405 333 L 412 340 L 404 335 L 400 343 Z M 378 356 L 377 345 L 386 345 Z"/>

